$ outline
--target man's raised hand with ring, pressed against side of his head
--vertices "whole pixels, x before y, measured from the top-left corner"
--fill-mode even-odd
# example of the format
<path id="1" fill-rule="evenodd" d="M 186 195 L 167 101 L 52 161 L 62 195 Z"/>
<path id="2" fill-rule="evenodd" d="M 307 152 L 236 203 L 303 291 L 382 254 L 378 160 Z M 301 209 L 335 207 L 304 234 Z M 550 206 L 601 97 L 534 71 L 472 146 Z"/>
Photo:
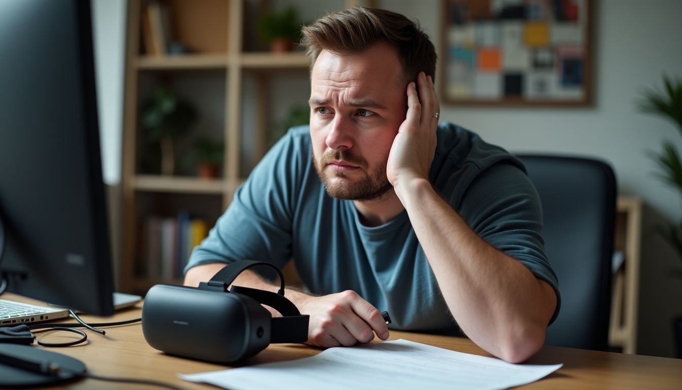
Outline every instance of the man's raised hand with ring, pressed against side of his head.
<path id="1" fill-rule="evenodd" d="M 428 180 L 436 152 L 437 117 L 440 105 L 431 76 L 419 72 L 417 85 L 407 85 L 407 115 L 398 129 L 386 167 L 389 182 L 396 188 L 410 186 L 413 180 Z M 438 115 L 436 115 L 438 114 Z M 400 196 L 400 193 L 398 193 Z"/>

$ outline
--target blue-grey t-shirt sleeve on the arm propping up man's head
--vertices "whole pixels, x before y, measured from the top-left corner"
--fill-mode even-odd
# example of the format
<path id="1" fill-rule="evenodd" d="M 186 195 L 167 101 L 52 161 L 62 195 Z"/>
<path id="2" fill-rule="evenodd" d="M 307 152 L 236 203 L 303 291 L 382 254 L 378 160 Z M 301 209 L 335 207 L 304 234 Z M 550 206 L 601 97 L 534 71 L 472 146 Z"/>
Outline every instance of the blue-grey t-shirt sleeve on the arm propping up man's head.
<path id="1" fill-rule="evenodd" d="M 485 169 L 466 189 L 458 213 L 486 242 L 552 286 L 554 322 L 561 306 L 559 282 L 544 251 L 542 205 L 528 176 L 506 163 Z"/>

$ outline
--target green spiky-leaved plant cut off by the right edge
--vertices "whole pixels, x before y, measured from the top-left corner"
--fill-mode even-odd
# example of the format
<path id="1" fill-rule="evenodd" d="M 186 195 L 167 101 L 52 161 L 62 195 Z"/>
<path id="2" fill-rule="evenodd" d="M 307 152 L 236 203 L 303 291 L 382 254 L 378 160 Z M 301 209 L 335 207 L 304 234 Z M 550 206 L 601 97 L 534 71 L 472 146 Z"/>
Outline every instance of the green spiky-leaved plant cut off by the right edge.
<path id="1" fill-rule="evenodd" d="M 664 75 L 663 83 L 663 92 L 651 89 L 644 93 L 640 109 L 672 120 L 682 136 L 682 79 Z M 674 143 L 666 139 L 661 152 L 650 152 L 650 156 L 661 170 L 659 178 L 676 189 L 682 197 L 682 161 Z M 678 260 L 682 262 L 682 221 L 659 226 L 658 232 L 674 248 Z M 674 275 L 682 280 L 682 268 L 676 269 Z M 674 319 L 673 329 L 677 357 L 682 358 L 682 316 Z"/>

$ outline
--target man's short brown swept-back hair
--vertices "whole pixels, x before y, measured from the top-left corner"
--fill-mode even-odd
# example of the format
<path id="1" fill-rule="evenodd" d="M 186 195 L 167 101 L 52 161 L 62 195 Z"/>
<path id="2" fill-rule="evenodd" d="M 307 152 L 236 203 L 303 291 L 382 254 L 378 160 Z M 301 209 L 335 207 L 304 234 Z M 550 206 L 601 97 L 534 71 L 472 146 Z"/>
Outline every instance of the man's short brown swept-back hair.
<path id="1" fill-rule="evenodd" d="M 398 48 L 407 81 L 424 71 L 436 76 L 436 49 L 419 23 L 401 14 L 376 8 L 350 8 L 327 14 L 303 26 L 301 45 L 310 57 L 310 70 L 321 51 L 335 54 L 360 53 L 375 43 L 388 42 Z"/>

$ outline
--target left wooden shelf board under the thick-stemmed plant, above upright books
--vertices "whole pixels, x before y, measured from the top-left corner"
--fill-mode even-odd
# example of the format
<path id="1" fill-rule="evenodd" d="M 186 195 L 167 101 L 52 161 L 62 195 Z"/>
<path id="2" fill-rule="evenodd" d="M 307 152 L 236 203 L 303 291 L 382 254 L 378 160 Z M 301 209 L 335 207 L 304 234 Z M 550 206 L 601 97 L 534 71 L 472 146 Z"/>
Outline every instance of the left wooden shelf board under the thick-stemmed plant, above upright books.
<path id="1" fill-rule="evenodd" d="M 132 187 L 137 191 L 221 195 L 226 189 L 226 182 L 220 179 L 136 175 L 132 178 Z"/>

